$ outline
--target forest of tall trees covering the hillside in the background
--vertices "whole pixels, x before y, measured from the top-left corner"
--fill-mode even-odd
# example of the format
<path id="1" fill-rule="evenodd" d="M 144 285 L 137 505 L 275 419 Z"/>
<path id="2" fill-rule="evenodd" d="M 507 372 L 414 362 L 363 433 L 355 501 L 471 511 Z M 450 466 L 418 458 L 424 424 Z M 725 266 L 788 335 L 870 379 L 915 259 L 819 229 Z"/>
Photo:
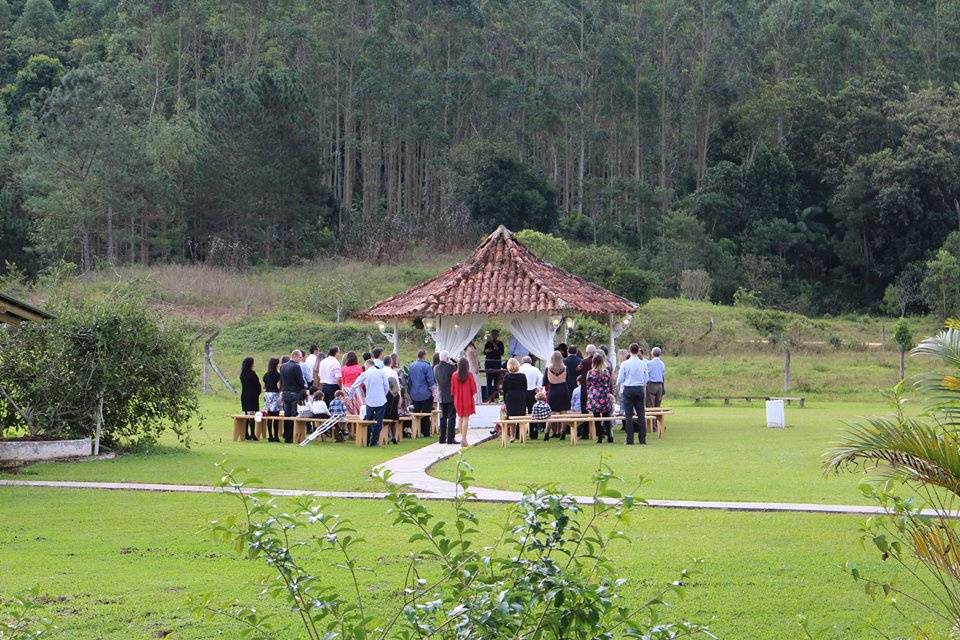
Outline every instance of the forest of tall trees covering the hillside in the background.
<path id="1" fill-rule="evenodd" d="M 960 275 L 956 0 L 0 0 L 0 50 L 6 270 L 503 222 L 809 313 Z"/>

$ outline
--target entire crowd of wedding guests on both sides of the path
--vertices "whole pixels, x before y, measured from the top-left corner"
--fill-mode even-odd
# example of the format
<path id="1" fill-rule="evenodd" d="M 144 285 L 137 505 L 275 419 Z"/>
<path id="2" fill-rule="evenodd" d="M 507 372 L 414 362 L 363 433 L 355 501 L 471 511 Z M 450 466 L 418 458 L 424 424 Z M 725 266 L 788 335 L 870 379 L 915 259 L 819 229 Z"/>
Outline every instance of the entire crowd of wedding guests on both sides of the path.
<path id="1" fill-rule="evenodd" d="M 613 360 L 603 346 L 587 345 L 581 356 L 576 346 L 560 344 L 544 371 L 519 343 L 511 343 L 510 357 L 504 363 L 506 353 L 499 333 L 492 331 L 483 348 L 487 380 L 482 394 L 473 343 L 459 358 L 440 351 L 433 362 L 427 361 L 426 351 L 421 349 L 406 369 L 397 354 L 384 356 L 379 348 L 358 357 L 355 351 L 341 353 L 334 346 L 324 356 L 313 345 L 306 356 L 294 350 L 289 356 L 271 358 L 262 379 L 254 371 L 253 358 L 248 357 L 240 371 L 241 409 L 267 417 L 360 416 L 374 423 L 368 430 L 369 446 L 380 442 L 384 421 L 393 421 L 391 428 L 396 429 L 403 416 L 418 416 L 419 424 L 413 428 L 429 436 L 432 413 L 439 409 L 440 443 L 466 447 L 470 417 L 482 399 L 495 402 L 502 397 L 503 417 L 530 415 L 534 420 L 531 436 L 538 438 L 543 431 L 545 440 L 566 437 L 567 427 L 546 427 L 543 421 L 548 418 L 564 413 L 611 417 L 619 403 L 626 443 L 646 444 L 645 407 L 659 407 L 664 394 L 665 366 L 659 348 L 651 349 L 650 359 L 646 359 L 634 343 Z M 282 421 L 281 434 L 278 422 L 267 421 L 269 441 L 293 442 L 292 423 Z M 597 441 L 613 442 L 612 431 L 611 421 L 600 422 Z M 336 429 L 334 435 L 340 440 L 345 434 Z M 391 433 L 389 440 L 396 443 L 396 435 Z M 246 438 L 257 439 L 252 422 Z"/>

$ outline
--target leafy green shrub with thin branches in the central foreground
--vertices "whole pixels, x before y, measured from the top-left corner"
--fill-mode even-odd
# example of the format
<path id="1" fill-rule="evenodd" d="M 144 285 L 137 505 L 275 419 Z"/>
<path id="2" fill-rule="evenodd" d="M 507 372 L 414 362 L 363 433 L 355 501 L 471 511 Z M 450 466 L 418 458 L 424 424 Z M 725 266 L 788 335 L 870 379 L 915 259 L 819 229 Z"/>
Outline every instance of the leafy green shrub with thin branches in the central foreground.
<path id="1" fill-rule="evenodd" d="M 471 469 L 462 459 L 450 521 L 382 473 L 394 525 L 409 528 L 409 541 L 420 548 L 408 557 L 400 602 L 380 616 L 370 610 L 358 579 L 364 567 L 357 551 L 366 542 L 348 520 L 309 496 L 282 510 L 275 498 L 249 490 L 257 481 L 245 478 L 245 470 L 220 467 L 217 486 L 235 496 L 243 510 L 213 522 L 211 531 L 271 568 L 264 593 L 288 604 L 311 640 L 715 637 L 706 627 L 660 617 L 666 597 L 682 593 L 686 571 L 645 601 L 624 595 L 627 581 L 616 576 L 608 551 L 626 538 L 616 525 L 626 522 L 640 501 L 611 488 L 618 478 L 606 466 L 594 476 L 590 504 L 551 489 L 530 489 L 509 508 L 499 534 L 483 542 L 480 519 L 470 509 L 475 497 Z M 613 527 L 605 526 L 610 523 Z M 305 529 L 316 533 L 304 536 Z M 321 581 L 303 566 L 301 556 L 310 549 L 338 555 L 336 566 L 349 586 Z M 247 637 L 276 633 L 277 621 L 253 607 L 218 605 L 210 597 L 194 605 L 197 615 L 234 620 Z"/>

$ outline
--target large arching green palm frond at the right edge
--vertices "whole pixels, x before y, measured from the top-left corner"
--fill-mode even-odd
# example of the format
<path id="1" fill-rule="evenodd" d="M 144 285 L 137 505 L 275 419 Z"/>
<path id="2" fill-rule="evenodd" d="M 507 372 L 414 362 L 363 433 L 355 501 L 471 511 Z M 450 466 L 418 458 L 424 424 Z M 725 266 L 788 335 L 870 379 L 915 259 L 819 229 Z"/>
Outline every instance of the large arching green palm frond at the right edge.
<path id="1" fill-rule="evenodd" d="M 898 416 L 851 424 L 824 455 L 824 470 L 857 465 L 888 467 L 894 476 L 960 496 L 960 440 L 938 423 Z"/>

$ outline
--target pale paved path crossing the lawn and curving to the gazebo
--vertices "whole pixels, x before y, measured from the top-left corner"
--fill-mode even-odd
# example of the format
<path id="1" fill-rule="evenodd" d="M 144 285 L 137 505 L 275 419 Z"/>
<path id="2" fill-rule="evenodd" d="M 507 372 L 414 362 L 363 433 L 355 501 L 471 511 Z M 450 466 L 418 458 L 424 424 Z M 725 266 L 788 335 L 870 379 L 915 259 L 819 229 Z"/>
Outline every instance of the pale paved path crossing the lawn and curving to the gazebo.
<path id="1" fill-rule="evenodd" d="M 471 420 L 469 440 L 471 446 L 492 439 L 489 431 L 497 418 L 499 408 L 491 405 L 477 407 L 479 413 Z M 458 436 L 459 437 L 459 436 Z M 410 485 L 413 493 L 428 500 L 449 500 L 456 495 L 457 486 L 448 481 L 429 475 L 429 469 L 438 462 L 455 456 L 460 450 L 459 445 L 431 444 L 416 451 L 404 454 L 380 465 L 379 468 L 391 472 L 391 482 Z M 151 491 L 167 493 L 221 493 L 221 489 L 204 485 L 182 484 L 153 484 L 137 482 L 72 482 L 57 480 L 0 480 L 0 486 L 6 487 L 47 487 L 57 489 L 97 489 L 114 491 Z M 366 499 L 376 500 L 386 494 L 367 491 L 310 491 L 300 489 L 257 489 L 271 495 L 281 497 L 317 496 L 320 498 L 337 499 Z M 477 500 L 482 502 L 511 503 L 520 499 L 519 491 L 504 491 L 471 487 Z M 577 497 L 581 503 L 590 503 L 592 498 Z M 750 512 L 783 512 L 783 513 L 823 513 L 823 514 L 855 514 L 876 515 L 884 513 L 883 509 L 866 505 L 844 504 L 806 504 L 794 502 L 727 502 L 705 500 L 647 500 L 647 506 L 662 509 L 705 509 L 714 511 L 750 511 Z M 930 515 L 933 515 L 930 512 Z M 960 514 L 957 514 L 960 516 Z"/>

